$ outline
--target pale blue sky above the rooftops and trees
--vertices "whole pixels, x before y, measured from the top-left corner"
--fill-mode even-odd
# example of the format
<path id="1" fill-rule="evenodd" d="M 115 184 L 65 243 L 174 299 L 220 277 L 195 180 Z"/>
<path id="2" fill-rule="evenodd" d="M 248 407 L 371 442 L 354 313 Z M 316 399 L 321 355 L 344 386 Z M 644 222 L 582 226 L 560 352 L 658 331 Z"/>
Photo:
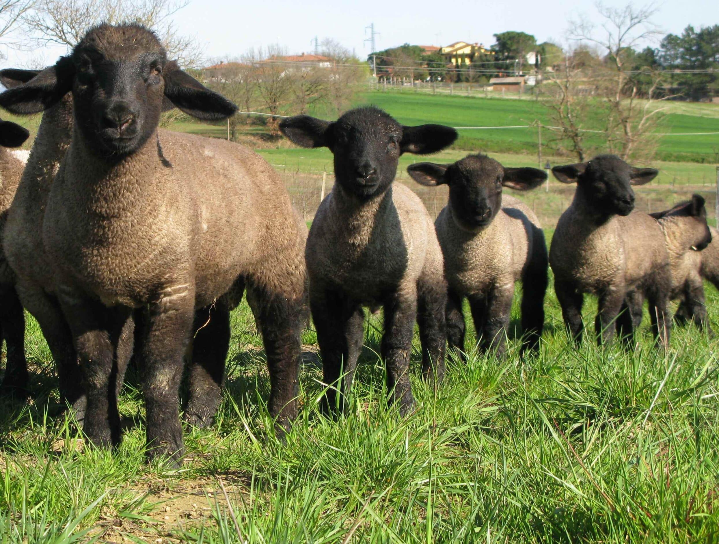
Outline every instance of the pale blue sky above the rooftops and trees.
<path id="1" fill-rule="evenodd" d="M 624 1 L 605 4 L 623 6 Z M 635 3 L 635 5 L 643 5 Z M 656 4 L 654 22 L 665 32 L 681 32 L 687 24 L 695 27 L 719 22 L 715 1 L 664 1 Z M 278 42 L 289 52 L 311 52 L 315 36 L 342 42 L 359 57 L 370 52 L 363 40 L 365 26 L 374 22 L 377 48 L 404 42 L 419 45 L 446 45 L 458 40 L 491 45 L 492 34 L 521 30 L 542 42 L 562 41 L 567 22 L 580 14 L 595 13 L 594 0 L 493 0 L 414 2 L 364 0 L 348 1 L 237 1 L 191 0 L 175 15 L 181 32 L 193 34 L 206 45 L 209 57 L 237 56 L 249 47 Z M 45 48 L 32 52 L 6 52 L 7 65 L 45 60 L 52 63 L 62 49 Z"/>

